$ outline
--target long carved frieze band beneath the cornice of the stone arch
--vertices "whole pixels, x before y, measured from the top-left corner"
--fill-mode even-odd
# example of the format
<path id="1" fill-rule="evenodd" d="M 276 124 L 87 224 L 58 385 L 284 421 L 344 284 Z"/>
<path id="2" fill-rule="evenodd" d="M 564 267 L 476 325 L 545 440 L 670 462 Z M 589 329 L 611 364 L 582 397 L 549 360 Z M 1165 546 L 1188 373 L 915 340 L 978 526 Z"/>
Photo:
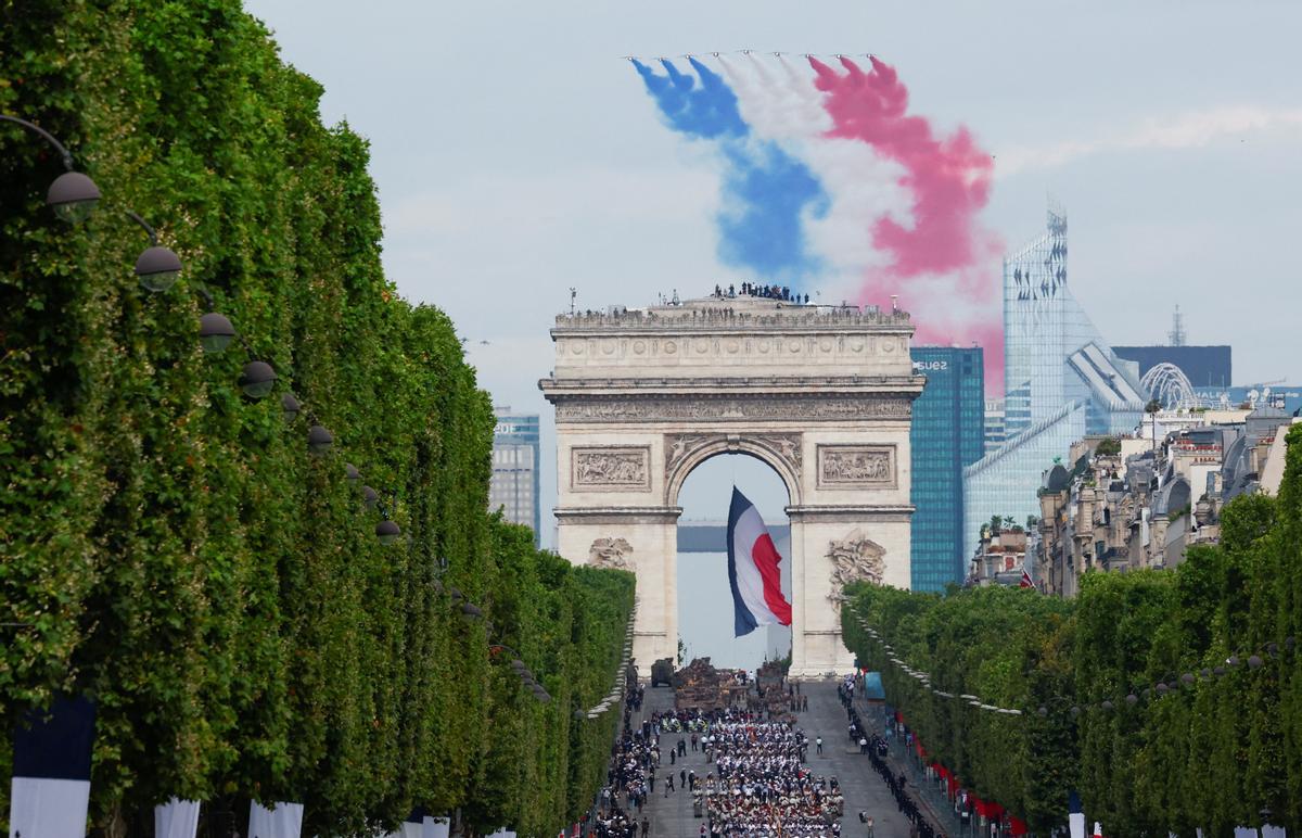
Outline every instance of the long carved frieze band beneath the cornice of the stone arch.
<path id="1" fill-rule="evenodd" d="M 750 420 L 862 420 L 911 414 L 906 397 L 875 396 L 646 396 L 556 399 L 557 422 L 674 422 Z"/>

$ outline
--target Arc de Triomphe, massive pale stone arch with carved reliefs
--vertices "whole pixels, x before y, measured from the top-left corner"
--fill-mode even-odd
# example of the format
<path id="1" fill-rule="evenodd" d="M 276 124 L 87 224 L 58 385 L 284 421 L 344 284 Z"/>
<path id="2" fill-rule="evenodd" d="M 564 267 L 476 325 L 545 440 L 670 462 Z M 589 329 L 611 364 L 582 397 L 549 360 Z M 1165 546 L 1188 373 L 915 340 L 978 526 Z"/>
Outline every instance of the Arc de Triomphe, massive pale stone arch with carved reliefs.
<path id="1" fill-rule="evenodd" d="M 677 656 L 678 490 L 724 452 L 786 485 L 792 672 L 849 669 L 841 586 L 909 586 L 911 335 L 902 311 L 758 297 L 556 318 L 557 549 L 635 571 L 643 671 Z"/>

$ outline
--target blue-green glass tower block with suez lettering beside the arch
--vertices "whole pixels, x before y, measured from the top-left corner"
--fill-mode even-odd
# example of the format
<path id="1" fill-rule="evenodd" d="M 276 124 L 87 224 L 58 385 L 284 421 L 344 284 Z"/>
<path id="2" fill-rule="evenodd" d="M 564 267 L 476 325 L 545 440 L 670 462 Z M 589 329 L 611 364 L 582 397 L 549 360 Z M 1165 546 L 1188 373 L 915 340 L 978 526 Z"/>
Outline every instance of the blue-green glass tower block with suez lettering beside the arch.
<path id="1" fill-rule="evenodd" d="M 979 348 L 913 347 L 913 369 L 927 386 L 913 403 L 911 580 L 914 590 L 960 584 L 963 550 L 963 467 L 986 448 L 986 379 Z"/>

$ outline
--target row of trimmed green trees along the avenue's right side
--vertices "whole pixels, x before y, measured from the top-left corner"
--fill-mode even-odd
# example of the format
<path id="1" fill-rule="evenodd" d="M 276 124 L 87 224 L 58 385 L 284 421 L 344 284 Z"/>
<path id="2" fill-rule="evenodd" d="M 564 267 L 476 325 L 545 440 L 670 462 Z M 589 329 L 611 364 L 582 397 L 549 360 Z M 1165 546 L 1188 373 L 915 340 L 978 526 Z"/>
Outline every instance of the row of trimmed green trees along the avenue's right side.
<path id="1" fill-rule="evenodd" d="M 1279 497 L 1228 504 L 1220 545 L 1191 549 L 1174 572 L 1087 573 L 1070 601 L 861 585 L 844 613 L 846 644 L 883 671 L 930 757 L 1036 831 L 1065 821 L 1073 788 L 1108 834 L 1297 828 L 1302 426 L 1288 443 Z"/>

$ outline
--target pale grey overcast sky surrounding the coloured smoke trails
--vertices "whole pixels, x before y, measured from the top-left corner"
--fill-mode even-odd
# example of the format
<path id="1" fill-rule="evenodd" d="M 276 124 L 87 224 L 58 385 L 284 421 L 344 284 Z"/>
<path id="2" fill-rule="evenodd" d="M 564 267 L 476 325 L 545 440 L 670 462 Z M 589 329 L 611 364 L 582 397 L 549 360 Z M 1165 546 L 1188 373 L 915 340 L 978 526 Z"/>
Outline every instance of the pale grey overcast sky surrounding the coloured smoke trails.
<path id="1" fill-rule="evenodd" d="M 717 167 L 621 60 L 740 48 L 880 56 L 914 112 L 995 155 L 983 220 L 1009 248 L 1047 194 L 1065 205 L 1072 285 L 1111 343 L 1164 341 L 1178 302 L 1190 343 L 1233 345 L 1236 383 L 1302 382 L 1295 0 L 247 8 L 326 86 L 327 123 L 370 138 L 389 276 L 453 317 L 496 400 L 544 421 L 570 287 L 637 306 L 749 279 L 715 255 Z"/>

